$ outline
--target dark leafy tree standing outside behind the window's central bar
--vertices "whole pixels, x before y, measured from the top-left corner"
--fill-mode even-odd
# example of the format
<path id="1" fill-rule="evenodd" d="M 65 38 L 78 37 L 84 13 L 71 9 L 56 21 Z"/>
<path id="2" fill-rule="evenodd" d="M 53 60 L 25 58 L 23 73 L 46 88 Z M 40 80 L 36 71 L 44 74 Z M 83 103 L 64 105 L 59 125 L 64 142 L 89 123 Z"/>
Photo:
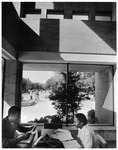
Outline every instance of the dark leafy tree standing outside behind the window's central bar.
<path id="1" fill-rule="evenodd" d="M 72 121 L 75 112 L 79 109 L 80 99 L 78 98 L 79 89 L 76 82 L 80 80 L 80 73 L 70 71 L 68 76 L 66 72 L 61 72 L 62 79 L 55 87 L 49 96 L 53 101 L 54 108 L 57 110 L 59 116 L 64 120 L 67 113 L 68 121 Z"/>

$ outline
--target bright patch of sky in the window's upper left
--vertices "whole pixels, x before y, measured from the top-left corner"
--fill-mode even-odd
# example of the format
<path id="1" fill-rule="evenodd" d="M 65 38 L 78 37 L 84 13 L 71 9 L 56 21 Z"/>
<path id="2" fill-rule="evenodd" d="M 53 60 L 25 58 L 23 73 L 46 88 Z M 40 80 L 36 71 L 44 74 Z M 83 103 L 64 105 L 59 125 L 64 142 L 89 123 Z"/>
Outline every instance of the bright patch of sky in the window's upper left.
<path id="1" fill-rule="evenodd" d="M 54 76 L 53 71 L 23 71 L 23 78 L 29 78 L 32 82 L 45 83 L 52 76 Z"/>

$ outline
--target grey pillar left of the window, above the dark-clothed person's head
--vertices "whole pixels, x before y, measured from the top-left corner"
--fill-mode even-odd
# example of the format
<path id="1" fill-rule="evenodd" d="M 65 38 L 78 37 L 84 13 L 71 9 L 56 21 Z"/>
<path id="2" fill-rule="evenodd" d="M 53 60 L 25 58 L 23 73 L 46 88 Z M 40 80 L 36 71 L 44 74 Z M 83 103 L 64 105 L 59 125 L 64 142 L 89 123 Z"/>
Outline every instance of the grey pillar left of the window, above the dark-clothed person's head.
<path id="1" fill-rule="evenodd" d="M 21 75 L 21 64 L 15 60 L 6 60 L 3 97 L 9 106 L 20 106 Z"/>

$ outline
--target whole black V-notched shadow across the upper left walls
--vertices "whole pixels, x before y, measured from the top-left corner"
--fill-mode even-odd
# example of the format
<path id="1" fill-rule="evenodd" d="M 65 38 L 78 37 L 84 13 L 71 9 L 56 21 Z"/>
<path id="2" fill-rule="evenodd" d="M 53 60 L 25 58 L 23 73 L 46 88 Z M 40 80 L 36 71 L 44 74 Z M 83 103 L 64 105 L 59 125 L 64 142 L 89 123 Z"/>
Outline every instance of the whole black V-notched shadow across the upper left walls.
<path id="1" fill-rule="evenodd" d="M 7 11 L 6 11 L 7 10 Z M 17 15 L 11 2 L 2 3 L 2 36 L 17 51 L 59 51 L 59 20 L 41 19 L 40 36 Z M 5 45 L 3 45 L 3 48 Z"/>

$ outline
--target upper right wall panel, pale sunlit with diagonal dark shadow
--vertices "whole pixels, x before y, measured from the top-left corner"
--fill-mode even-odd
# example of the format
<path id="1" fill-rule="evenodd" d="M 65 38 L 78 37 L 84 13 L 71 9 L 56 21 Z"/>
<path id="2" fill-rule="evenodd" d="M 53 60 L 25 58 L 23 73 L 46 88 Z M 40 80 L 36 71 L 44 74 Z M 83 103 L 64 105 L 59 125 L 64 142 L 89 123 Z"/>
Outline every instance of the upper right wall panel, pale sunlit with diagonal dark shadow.
<path id="1" fill-rule="evenodd" d="M 59 51 L 115 54 L 116 33 L 114 25 L 110 22 L 60 20 Z"/>

